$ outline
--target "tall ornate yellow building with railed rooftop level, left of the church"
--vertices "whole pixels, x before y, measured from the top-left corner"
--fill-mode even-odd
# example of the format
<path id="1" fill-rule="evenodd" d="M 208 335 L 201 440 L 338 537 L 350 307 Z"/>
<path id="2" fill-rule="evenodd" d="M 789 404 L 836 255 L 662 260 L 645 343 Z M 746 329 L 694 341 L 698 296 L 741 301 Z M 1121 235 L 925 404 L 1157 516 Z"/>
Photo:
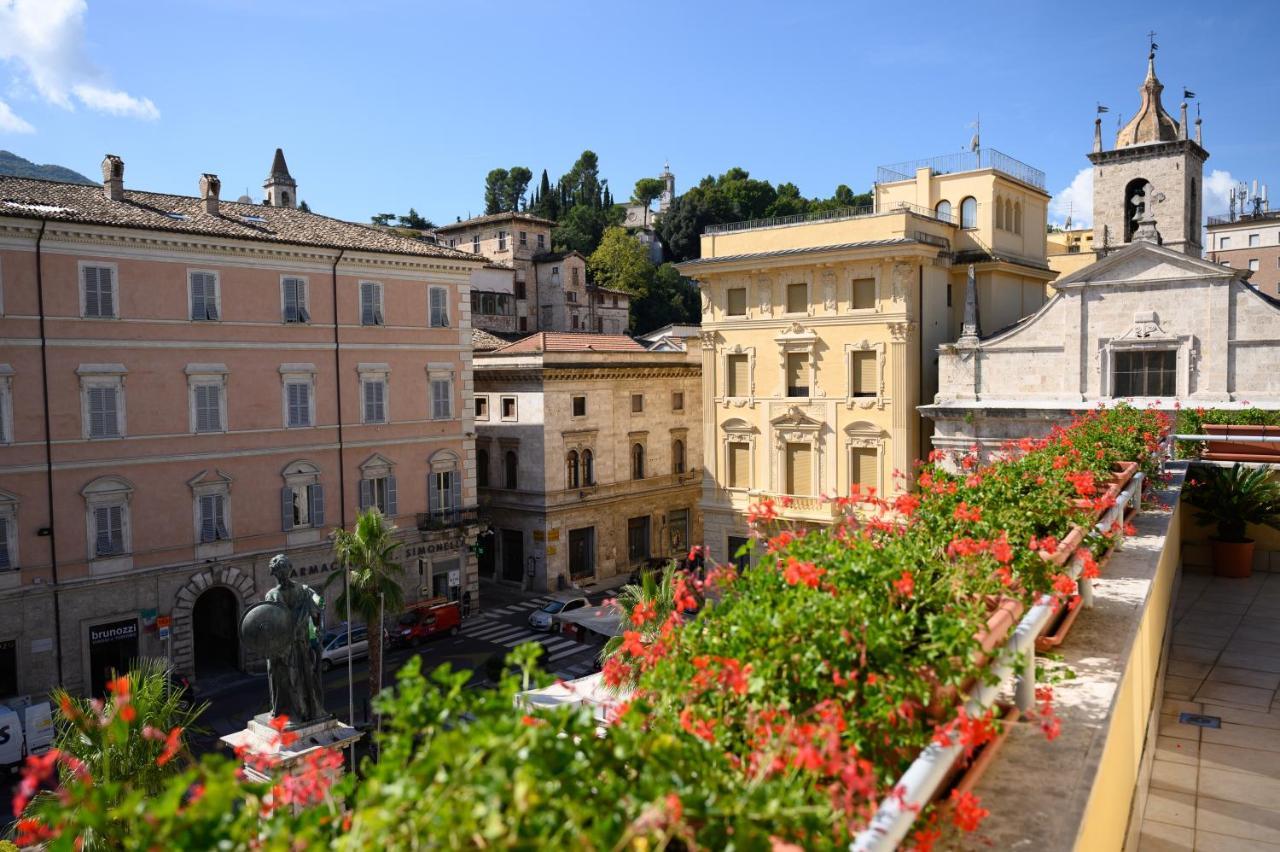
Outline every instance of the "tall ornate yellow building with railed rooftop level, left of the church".
<path id="1" fill-rule="evenodd" d="M 1043 173 L 997 151 L 882 166 L 876 205 L 708 228 L 680 265 L 703 301 L 704 541 L 745 541 L 746 510 L 829 523 L 823 496 L 902 487 L 928 452 L 915 407 L 961 326 L 966 270 L 989 329 L 1044 301 Z"/>

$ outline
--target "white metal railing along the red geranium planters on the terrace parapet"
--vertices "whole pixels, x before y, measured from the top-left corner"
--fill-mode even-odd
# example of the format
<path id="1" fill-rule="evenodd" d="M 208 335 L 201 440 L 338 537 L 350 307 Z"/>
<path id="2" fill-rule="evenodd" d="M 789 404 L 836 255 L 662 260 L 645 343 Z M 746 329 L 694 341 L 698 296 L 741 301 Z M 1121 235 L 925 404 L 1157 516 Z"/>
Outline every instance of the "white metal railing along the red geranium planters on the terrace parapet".
<path id="1" fill-rule="evenodd" d="M 1124 537 L 1125 509 L 1133 504 L 1135 509 L 1142 504 L 1143 475 L 1134 473 L 1129 484 L 1116 496 L 1114 507 L 1098 519 L 1094 526 L 1098 531 L 1108 532 L 1116 523 L 1120 525 L 1119 537 Z M 1119 544 L 1119 542 L 1117 542 Z M 1075 556 L 1069 564 L 1069 574 L 1076 581 L 1080 591 L 1080 605 L 1093 606 L 1093 581 L 1080 577 L 1083 562 Z M 992 664 L 992 670 L 997 675 L 995 683 L 984 679 L 977 692 L 965 704 L 969 715 L 984 714 L 1010 675 L 1015 677 L 1014 701 L 1020 710 L 1030 710 L 1036 704 L 1036 640 L 1048 626 L 1053 614 L 1053 599 L 1042 595 L 1032 609 L 1023 617 L 1023 620 L 1014 628 L 1014 635 L 1000 650 Z M 1016 674 L 1015 674 L 1016 673 Z M 938 787 L 946 779 L 960 756 L 964 746 L 955 742 L 950 746 L 940 746 L 933 742 L 925 746 L 911 765 L 902 773 L 897 783 L 893 784 L 893 796 L 886 797 L 872 817 L 867 828 L 854 838 L 849 848 L 854 852 L 890 852 L 896 849 L 910 832 L 920 809 L 928 805 Z"/>

